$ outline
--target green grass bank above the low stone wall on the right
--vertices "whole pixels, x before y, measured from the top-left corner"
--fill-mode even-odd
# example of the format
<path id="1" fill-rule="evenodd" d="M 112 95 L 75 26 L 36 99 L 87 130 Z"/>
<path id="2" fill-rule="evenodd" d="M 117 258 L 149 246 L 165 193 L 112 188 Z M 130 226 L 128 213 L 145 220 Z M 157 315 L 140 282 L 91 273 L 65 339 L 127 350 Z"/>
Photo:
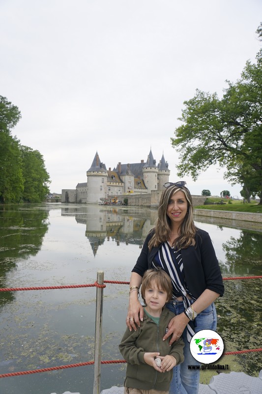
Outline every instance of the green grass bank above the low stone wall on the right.
<path id="1" fill-rule="evenodd" d="M 218 202 L 223 201 L 223 204 Z M 199 209 L 213 209 L 218 211 L 235 211 L 235 212 L 251 212 L 251 213 L 262 213 L 262 205 L 259 205 L 257 201 L 250 203 L 241 203 L 240 200 L 231 200 L 227 198 L 218 197 L 207 197 L 204 205 L 195 206 Z"/>

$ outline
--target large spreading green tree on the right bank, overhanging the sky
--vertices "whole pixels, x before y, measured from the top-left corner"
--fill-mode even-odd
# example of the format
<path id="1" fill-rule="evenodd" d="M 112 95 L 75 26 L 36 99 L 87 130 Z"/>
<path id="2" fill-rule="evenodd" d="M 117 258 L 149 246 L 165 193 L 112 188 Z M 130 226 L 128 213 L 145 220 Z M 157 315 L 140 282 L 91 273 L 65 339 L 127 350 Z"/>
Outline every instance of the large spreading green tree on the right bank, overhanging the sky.
<path id="1" fill-rule="evenodd" d="M 259 29 L 257 33 L 261 38 Z M 171 138 L 180 153 L 178 175 L 190 174 L 196 180 L 211 164 L 219 164 L 234 183 L 244 188 L 248 182 L 250 193 L 257 193 L 262 204 L 262 50 L 255 64 L 246 63 L 236 83 L 227 83 L 221 99 L 197 90 L 184 102 L 182 125 Z M 252 169 L 254 182 L 241 168 Z"/>

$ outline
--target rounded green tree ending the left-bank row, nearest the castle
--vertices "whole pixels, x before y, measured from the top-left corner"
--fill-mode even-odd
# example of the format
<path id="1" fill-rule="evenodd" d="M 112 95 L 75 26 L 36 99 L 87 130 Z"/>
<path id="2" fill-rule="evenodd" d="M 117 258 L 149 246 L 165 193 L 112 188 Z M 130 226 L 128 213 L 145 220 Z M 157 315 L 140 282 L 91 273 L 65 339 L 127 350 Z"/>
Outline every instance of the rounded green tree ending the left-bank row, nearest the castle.
<path id="1" fill-rule="evenodd" d="M 22 170 L 24 177 L 23 200 L 41 202 L 49 193 L 49 174 L 45 168 L 43 156 L 37 150 L 21 146 Z"/>

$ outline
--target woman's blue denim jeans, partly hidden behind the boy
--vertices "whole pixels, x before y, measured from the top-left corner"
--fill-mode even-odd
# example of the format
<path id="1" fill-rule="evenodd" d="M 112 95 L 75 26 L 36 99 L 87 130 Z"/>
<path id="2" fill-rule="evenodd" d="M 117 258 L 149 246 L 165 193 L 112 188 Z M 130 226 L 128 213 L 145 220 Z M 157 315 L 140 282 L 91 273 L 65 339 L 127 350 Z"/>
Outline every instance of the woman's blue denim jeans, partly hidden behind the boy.
<path id="1" fill-rule="evenodd" d="M 192 300 L 191 303 L 194 301 Z M 168 309 L 174 312 L 176 315 L 183 313 L 184 304 L 183 301 L 170 301 L 167 303 Z M 216 308 L 214 303 L 209 305 L 201 313 L 198 314 L 195 323 L 195 332 L 202 329 L 216 329 L 217 317 Z M 184 357 L 185 360 L 173 368 L 173 379 L 170 385 L 170 394 L 198 394 L 199 389 L 199 375 L 200 370 L 188 369 L 188 365 L 201 365 L 200 362 L 196 361 L 190 352 L 189 342 L 186 337 L 186 328 L 183 331 L 182 338 L 185 343 Z"/>

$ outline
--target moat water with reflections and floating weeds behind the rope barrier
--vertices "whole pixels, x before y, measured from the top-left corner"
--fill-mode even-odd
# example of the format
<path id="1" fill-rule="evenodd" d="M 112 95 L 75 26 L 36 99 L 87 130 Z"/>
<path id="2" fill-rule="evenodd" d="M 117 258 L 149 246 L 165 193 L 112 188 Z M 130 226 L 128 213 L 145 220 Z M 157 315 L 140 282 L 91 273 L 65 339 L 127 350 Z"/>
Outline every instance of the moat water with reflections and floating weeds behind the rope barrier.
<path id="1" fill-rule="evenodd" d="M 129 281 L 156 210 L 98 205 L 0 206 L 0 287 Z M 196 225 L 209 232 L 222 275 L 261 275 L 262 232 L 237 223 Z M 253 226 L 254 227 L 254 226 Z M 216 301 L 226 351 L 261 347 L 261 280 L 225 281 Z M 94 360 L 96 288 L 0 293 L 0 373 Z M 102 360 L 122 359 L 128 285 L 104 290 Z M 230 361 L 229 361 L 230 360 Z M 262 353 L 229 358 L 230 369 L 258 376 Z M 125 364 L 101 366 L 101 390 L 123 385 Z M 91 394 L 93 365 L 0 379 L 1 394 Z"/>

